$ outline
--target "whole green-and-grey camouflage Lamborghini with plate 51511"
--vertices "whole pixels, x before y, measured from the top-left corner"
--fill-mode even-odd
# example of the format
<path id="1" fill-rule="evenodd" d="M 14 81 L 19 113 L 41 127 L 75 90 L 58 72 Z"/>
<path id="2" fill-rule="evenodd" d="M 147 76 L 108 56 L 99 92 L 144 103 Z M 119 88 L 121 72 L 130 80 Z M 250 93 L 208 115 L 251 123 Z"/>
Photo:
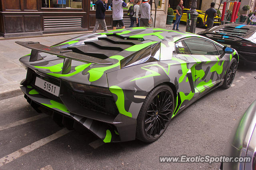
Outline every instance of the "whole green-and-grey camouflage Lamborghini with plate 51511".
<path id="1" fill-rule="evenodd" d="M 86 34 L 20 58 L 21 90 L 37 111 L 105 143 L 157 140 L 171 119 L 210 90 L 230 87 L 238 53 L 200 35 L 134 27 Z"/>

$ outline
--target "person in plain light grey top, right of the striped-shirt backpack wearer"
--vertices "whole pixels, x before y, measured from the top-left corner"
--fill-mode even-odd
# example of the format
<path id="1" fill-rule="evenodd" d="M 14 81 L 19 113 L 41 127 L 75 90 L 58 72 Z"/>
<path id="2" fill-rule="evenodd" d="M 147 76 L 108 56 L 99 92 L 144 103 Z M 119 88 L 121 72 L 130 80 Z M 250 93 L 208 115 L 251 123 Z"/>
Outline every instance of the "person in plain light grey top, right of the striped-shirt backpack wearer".
<path id="1" fill-rule="evenodd" d="M 150 20 L 150 4 L 148 4 L 149 0 L 143 0 L 142 5 L 140 7 L 140 26 L 141 27 L 149 27 L 151 22 Z"/>

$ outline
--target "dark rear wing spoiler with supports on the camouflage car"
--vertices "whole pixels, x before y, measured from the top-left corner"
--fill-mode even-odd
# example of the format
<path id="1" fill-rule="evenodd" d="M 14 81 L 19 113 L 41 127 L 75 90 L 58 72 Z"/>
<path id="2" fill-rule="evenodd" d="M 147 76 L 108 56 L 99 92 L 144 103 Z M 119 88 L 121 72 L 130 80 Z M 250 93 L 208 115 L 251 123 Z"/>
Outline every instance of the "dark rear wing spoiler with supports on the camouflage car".
<path id="1" fill-rule="evenodd" d="M 70 65 L 71 65 L 71 60 L 77 60 L 77 61 L 82 61 L 82 62 L 87 62 L 87 63 L 96 63 L 96 64 L 103 64 L 103 65 L 111 65 L 113 64 L 110 61 L 98 59 L 95 57 L 91 57 L 88 55 L 83 55 L 80 53 L 74 53 L 72 50 L 63 50 L 63 49 L 57 49 L 54 47 L 48 47 L 46 45 L 42 45 L 39 42 L 33 42 L 33 41 L 15 41 L 15 43 L 22 45 L 24 47 L 27 47 L 29 49 L 32 49 L 31 55 L 30 55 L 30 61 L 37 61 L 38 60 L 38 51 L 44 52 L 44 53 L 49 53 L 53 55 L 57 55 L 59 57 L 64 57 L 64 63 L 65 60 L 69 59 L 70 60 Z"/>

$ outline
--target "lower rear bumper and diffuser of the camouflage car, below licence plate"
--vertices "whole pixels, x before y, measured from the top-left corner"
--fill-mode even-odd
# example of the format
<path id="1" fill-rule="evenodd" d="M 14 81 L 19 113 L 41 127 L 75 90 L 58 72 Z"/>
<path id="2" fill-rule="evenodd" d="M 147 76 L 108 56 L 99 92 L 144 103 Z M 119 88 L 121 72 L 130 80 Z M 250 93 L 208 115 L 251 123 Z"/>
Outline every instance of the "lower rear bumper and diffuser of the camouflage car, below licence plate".
<path id="1" fill-rule="evenodd" d="M 68 129 L 83 127 L 105 143 L 132 141 L 135 139 L 136 119 L 118 114 L 115 118 L 98 117 L 99 113 L 84 110 L 83 115 L 74 113 L 64 102 L 51 100 L 39 94 L 32 86 L 21 86 L 24 97 L 38 112 L 47 112 L 59 125 Z"/>

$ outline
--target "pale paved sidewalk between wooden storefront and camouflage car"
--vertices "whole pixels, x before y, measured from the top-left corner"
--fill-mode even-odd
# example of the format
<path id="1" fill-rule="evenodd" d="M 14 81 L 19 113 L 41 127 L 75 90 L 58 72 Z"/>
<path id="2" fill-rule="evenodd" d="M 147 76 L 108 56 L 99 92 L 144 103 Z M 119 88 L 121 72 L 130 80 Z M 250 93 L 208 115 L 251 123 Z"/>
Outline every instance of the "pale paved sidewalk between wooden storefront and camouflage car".
<path id="1" fill-rule="evenodd" d="M 166 29 L 172 29 L 168 27 Z M 186 25 L 180 23 L 180 31 L 186 30 Z M 205 29 L 196 28 L 196 33 Z M 51 46 L 61 41 L 78 37 L 85 33 L 69 33 L 61 35 L 45 35 L 36 37 L 21 37 L 21 38 L 0 38 L 0 100 L 11 98 L 23 94 L 20 90 L 20 82 L 26 78 L 26 70 L 19 62 L 20 57 L 31 53 L 31 50 L 22 47 L 15 41 L 38 41 L 43 45 Z"/>

